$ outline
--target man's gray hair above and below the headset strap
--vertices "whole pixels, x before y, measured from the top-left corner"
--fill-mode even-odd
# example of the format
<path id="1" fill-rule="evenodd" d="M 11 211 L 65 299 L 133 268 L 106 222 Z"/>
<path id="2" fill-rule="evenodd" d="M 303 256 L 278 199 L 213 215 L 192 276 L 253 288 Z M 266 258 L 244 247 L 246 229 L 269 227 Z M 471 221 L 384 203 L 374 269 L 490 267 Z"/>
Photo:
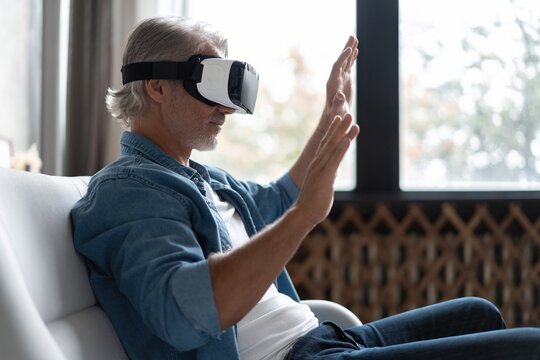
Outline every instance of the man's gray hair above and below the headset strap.
<path id="1" fill-rule="evenodd" d="M 122 65 L 145 61 L 186 61 L 208 44 L 227 55 L 227 40 L 207 23 L 182 17 L 150 18 L 141 22 L 129 36 Z M 107 109 L 126 127 L 137 121 L 148 106 L 143 80 L 107 91 Z"/>

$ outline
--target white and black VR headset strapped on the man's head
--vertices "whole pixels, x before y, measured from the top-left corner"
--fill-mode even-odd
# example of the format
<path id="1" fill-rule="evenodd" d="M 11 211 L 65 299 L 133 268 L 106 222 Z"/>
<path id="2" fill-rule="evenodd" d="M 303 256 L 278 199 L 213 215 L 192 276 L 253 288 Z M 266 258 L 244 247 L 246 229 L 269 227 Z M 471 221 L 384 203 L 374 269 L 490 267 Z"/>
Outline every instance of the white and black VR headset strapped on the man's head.
<path id="1" fill-rule="evenodd" d="M 203 55 L 186 62 L 140 62 L 122 66 L 122 84 L 136 80 L 183 80 L 184 88 L 209 105 L 223 105 L 239 114 L 253 114 L 259 75 L 245 62 Z"/>

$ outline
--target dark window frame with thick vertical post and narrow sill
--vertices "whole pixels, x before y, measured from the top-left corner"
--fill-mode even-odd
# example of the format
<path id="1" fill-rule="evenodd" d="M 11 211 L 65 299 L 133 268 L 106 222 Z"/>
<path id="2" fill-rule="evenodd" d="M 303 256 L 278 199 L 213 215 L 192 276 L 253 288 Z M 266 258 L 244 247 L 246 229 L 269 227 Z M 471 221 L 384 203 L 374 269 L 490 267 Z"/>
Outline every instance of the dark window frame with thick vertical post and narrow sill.
<path id="1" fill-rule="evenodd" d="M 399 0 L 357 0 L 356 187 L 337 201 L 520 201 L 540 191 L 403 191 L 399 186 Z"/>

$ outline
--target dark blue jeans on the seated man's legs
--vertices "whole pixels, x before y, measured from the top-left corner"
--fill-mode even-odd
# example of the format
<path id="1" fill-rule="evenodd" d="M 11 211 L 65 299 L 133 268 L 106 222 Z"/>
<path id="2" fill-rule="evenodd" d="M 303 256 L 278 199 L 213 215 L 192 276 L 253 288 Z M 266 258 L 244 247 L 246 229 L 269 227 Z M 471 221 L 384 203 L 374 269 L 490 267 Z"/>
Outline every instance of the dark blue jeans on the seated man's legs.
<path id="1" fill-rule="evenodd" d="M 348 330 L 324 322 L 286 359 L 540 359 L 540 329 L 506 329 L 493 304 L 461 298 Z"/>

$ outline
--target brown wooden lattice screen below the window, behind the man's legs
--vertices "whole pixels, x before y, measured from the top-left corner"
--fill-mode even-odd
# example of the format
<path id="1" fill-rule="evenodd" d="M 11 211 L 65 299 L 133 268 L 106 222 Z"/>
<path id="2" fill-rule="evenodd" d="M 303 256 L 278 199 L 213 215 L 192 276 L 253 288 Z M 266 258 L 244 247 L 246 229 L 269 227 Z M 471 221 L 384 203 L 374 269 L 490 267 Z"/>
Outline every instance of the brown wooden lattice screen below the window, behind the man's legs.
<path id="1" fill-rule="evenodd" d="M 509 326 L 540 325 L 540 218 L 519 204 L 496 218 L 486 204 L 464 217 L 443 203 L 435 217 L 412 204 L 401 218 L 378 204 L 344 205 L 288 266 L 302 298 L 340 303 L 364 322 L 461 296 L 501 309 Z"/>

